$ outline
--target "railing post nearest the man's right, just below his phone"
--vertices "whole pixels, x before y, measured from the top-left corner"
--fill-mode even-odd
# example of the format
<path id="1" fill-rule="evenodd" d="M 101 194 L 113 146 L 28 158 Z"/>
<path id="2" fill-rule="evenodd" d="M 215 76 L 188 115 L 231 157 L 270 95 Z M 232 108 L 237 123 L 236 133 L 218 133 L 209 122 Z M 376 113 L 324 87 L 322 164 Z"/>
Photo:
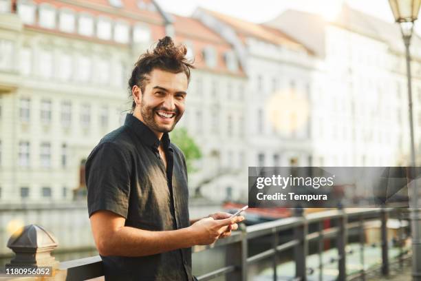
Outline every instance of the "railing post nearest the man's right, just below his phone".
<path id="1" fill-rule="evenodd" d="M 226 280 L 247 280 L 247 232 L 246 225 L 239 224 L 241 241 L 230 244 L 226 247 L 226 262 L 233 262 L 236 270 L 226 275 Z M 226 264 L 228 265 L 228 264 Z"/>

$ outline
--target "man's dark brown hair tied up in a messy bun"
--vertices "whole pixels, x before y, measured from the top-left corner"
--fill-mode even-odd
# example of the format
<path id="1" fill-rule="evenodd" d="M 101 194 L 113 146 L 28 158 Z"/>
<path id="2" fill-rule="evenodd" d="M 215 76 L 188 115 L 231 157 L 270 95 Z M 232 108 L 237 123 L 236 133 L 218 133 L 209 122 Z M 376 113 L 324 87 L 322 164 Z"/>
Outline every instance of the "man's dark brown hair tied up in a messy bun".
<path id="1" fill-rule="evenodd" d="M 171 37 L 164 37 L 158 41 L 153 50 L 147 50 L 136 61 L 129 79 L 129 96 L 134 85 L 138 85 L 142 94 L 149 82 L 149 74 L 152 70 L 159 69 L 167 72 L 184 72 L 187 81 L 190 82 L 190 69 L 195 68 L 193 61 L 186 58 L 187 48 L 185 45 L 175 45 Z M 136 107 L 135 101 L 131 105 L 131 110 Z"/>

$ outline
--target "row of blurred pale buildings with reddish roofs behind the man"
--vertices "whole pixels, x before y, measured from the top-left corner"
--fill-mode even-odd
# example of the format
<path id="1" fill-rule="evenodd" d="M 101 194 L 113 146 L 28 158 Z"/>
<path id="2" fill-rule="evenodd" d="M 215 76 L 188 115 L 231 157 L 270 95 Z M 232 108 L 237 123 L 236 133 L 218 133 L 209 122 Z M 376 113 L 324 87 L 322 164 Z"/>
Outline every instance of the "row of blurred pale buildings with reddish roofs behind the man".
<path id="1" fill-rule="evenodd" d="M 180 17 L 151 0 L 0 0 L 0 202 L 72 200 L 85 188 L 85 158 L 131 108 L 133 63 L 165 34 L 195 59 L 180 121 L 203 154 L 192 194 L 246 200 L 248 166 L 407 164 L 393 24 L 346 6 L 330 23 L 287 11 L 256 24 L 201 8 Z"/>

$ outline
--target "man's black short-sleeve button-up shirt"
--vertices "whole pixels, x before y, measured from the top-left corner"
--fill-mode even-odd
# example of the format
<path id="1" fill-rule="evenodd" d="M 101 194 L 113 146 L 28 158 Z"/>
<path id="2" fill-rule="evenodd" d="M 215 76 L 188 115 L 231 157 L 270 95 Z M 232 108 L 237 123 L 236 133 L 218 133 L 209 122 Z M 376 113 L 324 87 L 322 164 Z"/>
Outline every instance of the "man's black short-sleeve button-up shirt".
<path id="1" fill-rule="evenodd" d="M 158 153 L 162 143 L 167 167 Z M 149 231 L 188 227 L 188 186 L 184 154 L 161 141 L 132 114 L 104 136 L 86 163 L 89 217 L 99 210 L 126 218 L 125 225 Z M 101 256 L 105 280 L 192 280 L 191 249 L 152 256 Z"/>

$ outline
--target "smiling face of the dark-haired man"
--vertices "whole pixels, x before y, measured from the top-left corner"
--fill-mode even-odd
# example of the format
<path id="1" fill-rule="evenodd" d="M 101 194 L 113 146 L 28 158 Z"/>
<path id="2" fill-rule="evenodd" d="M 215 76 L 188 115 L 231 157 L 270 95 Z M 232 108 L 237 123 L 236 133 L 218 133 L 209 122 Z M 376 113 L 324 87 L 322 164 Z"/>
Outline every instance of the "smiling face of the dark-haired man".
<path id="1" fill-rule="evenodd" d="M 171 132 L 184 113 L 187 87 L 184 72 L 152 70 L 140 100 L 140 120 L 155 134 Z"/>

